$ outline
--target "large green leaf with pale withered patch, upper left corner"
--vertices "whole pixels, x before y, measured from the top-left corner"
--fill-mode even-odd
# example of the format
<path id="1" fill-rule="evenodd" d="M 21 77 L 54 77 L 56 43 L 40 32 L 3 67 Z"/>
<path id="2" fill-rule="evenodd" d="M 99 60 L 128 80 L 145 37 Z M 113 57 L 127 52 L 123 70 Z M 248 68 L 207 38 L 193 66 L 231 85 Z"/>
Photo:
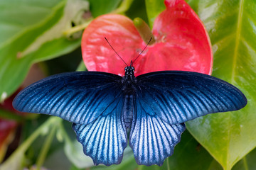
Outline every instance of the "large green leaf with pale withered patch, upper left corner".
<path id="1" fill-rule="evenodd" d="M 79 47 L 80 38 L 71 40 L 63 31 L 83 22 L 88 3 L 6 0 L 0 8 L 0 101 L 4 101 L 20 86 L 31 64 Z"/>

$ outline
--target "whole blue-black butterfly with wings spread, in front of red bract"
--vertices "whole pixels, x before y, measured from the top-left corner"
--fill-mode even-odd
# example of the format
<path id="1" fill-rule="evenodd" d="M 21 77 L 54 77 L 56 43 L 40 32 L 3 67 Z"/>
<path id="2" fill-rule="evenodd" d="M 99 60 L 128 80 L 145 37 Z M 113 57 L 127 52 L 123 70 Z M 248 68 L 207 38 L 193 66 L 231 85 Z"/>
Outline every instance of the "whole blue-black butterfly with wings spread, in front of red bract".
<path id="1" fill-rule="evenodd" d="M 173 154 L 186 121 L 246 103 L 235 86 L 206 74 L 163 71 L 135 77 L 129 66 L 124 77 L 105 72 L 47 77 L 23 89 L 13 106 L 72 122 L 95 164 L 119 164 L 129 142 L 137 163 L 150 166 Z"/>

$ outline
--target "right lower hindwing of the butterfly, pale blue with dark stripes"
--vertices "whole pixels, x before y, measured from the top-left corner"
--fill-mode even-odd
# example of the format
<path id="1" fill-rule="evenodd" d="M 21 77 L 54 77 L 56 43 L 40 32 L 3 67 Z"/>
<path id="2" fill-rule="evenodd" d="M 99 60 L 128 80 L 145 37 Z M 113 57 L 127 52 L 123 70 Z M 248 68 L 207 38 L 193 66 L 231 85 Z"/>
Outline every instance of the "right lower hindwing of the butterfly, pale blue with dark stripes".
<path id="1" fill-rule="evenodd" d="M 134 99 L 134 118 L 129 135 L 129 145 L 134 151 L 137 164 L 161 166 L 166 157 L 174 152 L 186 129 L 184 123 L 170 125 L 152 112 L 150 102 L 144 101 L 144 94 L 137 89 Z"/>

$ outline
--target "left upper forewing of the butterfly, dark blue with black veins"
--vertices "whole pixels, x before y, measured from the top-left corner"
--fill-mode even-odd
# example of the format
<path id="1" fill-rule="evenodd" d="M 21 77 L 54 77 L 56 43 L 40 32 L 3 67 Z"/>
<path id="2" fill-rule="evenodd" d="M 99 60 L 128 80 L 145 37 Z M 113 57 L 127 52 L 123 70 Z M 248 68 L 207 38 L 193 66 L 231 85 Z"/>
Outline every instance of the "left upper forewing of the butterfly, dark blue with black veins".
<path id="1" fill-rule="evenodd" d="M 56 115 L 73 123 L 95 120 L 112 103 L 122 86 L 119 77 L 104 72 L 68 72 L 31 84 L 16 96 L 21 112 Z"/>

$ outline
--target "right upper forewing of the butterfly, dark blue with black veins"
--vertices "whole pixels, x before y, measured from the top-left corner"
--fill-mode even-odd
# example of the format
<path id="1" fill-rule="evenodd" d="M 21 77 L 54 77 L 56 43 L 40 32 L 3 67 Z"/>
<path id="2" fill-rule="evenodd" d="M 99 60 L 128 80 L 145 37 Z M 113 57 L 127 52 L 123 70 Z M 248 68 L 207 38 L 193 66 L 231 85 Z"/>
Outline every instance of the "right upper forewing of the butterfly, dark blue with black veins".
<path id="1" fill-rule="evenodd" d="M 137 77 L 137 91 L 148 113 L 173 125 L 209 113 L 236 111 L 247 99 L 235 86 L 196 72 L 152 72 Z"/>

